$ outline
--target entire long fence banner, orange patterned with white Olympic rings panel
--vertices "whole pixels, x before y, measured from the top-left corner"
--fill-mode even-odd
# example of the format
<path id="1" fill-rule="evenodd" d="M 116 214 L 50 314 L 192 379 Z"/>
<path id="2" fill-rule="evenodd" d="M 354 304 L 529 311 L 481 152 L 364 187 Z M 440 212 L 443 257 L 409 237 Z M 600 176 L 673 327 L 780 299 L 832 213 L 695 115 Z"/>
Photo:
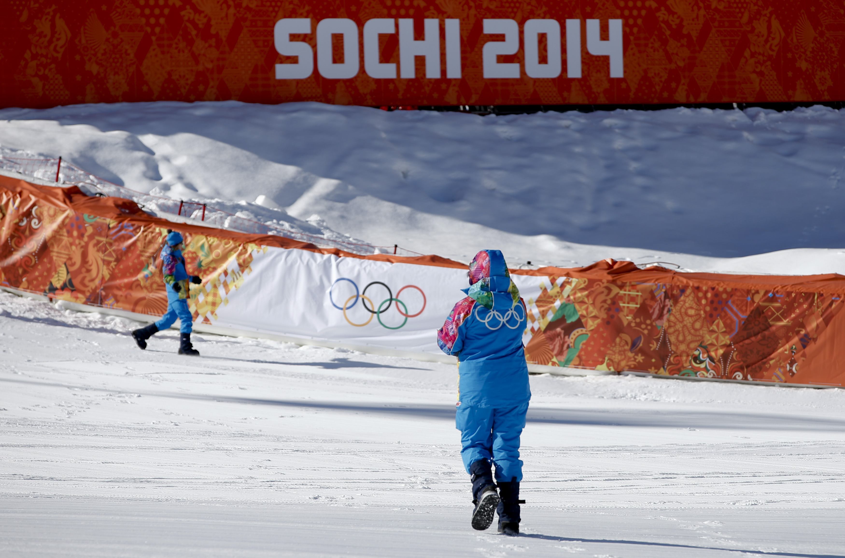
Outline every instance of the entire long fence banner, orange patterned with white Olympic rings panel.
<path id="1" fill-rule="evenodd" d="M 463 296 L 463 263 L 174 224 L 128 199 L 8 176 L 0 286 L 151 320 L 166 309 L 158 254 L 168 228 L 183 233 L 188 272 L 203 279 L 189 302 L 200 330 L 446 358 L 435 331 Z M 613 260 L 511 275 L 536 366 L 813 386 L 845 379 L 842 275 L 684 274 Z"/>

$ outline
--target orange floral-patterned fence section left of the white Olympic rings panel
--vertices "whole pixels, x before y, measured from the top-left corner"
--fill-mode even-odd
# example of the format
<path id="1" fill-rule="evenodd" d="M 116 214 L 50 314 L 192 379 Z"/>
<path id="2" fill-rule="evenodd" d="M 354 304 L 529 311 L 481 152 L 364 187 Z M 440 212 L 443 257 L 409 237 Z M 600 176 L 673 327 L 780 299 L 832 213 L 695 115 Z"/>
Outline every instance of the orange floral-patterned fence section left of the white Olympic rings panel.
<path id="1" fill-rule="evenodd" d="M 0 284 L 52 299 L 160 316 L 167 309 L 161 248 L 167 230 L 42 203 L 0 189 Z M 188 306 L 202 323 L 216 320 L 266 246 L 185 234 Z"/>

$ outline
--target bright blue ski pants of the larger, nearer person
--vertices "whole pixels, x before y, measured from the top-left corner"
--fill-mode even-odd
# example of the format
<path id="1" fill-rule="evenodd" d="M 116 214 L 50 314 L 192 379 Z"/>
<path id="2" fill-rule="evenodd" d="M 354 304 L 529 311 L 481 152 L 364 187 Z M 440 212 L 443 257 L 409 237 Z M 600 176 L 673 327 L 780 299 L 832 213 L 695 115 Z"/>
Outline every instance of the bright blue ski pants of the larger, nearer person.
<path id="1" fill-rule="evenodd" d="M 495 409 L 461 404 L 455 426 L 461 431 L 461 458 L 466 472 L 479 459 L 493 461 L 496 480 L 522 480 L 520 435 L 526 425 L 528 404 Z"/>

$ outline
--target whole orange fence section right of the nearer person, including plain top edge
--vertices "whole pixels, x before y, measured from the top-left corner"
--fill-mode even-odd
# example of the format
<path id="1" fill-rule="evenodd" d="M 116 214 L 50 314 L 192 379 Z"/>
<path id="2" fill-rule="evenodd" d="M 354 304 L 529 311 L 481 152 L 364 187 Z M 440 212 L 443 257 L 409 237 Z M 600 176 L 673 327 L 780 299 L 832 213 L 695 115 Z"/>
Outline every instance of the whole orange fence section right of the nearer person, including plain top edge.
<path id="1" fill-rule="evenodd" d="M 525 274 L 526 272 L 516 272 Z M 677 273 L 606 260 L 541 268 L 529 362 L 682 377 L 842 386 L 845 277 Z M 528 285 L 526 285 L 528 286 Z"/>

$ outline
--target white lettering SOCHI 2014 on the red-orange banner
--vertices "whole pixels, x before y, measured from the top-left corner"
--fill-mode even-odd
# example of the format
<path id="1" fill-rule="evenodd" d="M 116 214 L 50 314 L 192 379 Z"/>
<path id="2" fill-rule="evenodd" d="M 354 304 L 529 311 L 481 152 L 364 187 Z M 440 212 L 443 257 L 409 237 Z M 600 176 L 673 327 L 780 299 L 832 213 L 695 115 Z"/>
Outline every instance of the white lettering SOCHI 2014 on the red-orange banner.
<path id="1" fill-rule="evenodd" d="M 426 79 L 441 77 L 440 20 L 423 19 L 423 40 L 414 38 L 414 20 L 399 19 L 399 74 L 401 79 L 416 79 L 417 57 L 425 58 Z M 601 20 L 586 20 L 586 51 L 592 56 L 608 57 L 611 78 L 624 78 L 622 19 L 608 19 L 608 40 L 602 41 Z M 525 74 L 532 79 L 556 79 L 563 70 L 561 24 L 555 19 L 528 19 L 522 29 L 515 19 L 484 19 L 485 35 L 504 35 L 504 41 L 487 41 L 482 47 L 484 79 L 520 79 L 519 62 L 499 62 L 500 56 L 512 56 L 524 48 Z M 444 19 L 445 78 L 461 79 L 461 21 Z M 397 64 L 382 62 L 381 35 L 397 32 L 396 19 L 368 19 L 363 22 L 363 66 L 374 79 L 396 79 Z M 311 19 L 283 18 L 275 23 L 275 50 L 284 57 L 296 57 L 296 63 L 275 64 L 276 79 L 307 79 L 313 75 L 314 51 L 305 41 L 291 41 L 291 35 L 310 35 Z M 352 19 L 322 19 L 316 29 L 316 62 L 319 74 L 327 79 L 352 79 L 360 70 L 358 26 Z M 335 63 L 334 35 L 343 37 L 343 62 Z M 545 35 L 547 57 L 541 62 L 540 35 Z M 473 46 L 473 48 L 475 48 Z M 581 19 L 566 19 L 566 76 L 580 79 Z"/>

